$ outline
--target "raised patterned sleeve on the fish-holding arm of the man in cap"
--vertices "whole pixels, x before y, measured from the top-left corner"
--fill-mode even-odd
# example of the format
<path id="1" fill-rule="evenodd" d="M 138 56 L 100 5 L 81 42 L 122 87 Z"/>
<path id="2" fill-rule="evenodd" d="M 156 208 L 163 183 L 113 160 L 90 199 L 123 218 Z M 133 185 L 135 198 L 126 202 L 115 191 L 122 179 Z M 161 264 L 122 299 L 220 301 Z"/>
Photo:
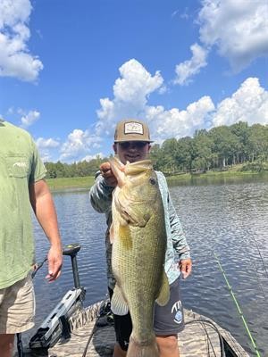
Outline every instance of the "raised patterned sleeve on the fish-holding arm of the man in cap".
<path id="1" fill-rule="evenodd" d="M 113 188 L 105 183 L 105 179 L 98 171 L 95 184 L 89 191 L 89 200 L 96 212 L 105 213 L 111 208 Z"/>

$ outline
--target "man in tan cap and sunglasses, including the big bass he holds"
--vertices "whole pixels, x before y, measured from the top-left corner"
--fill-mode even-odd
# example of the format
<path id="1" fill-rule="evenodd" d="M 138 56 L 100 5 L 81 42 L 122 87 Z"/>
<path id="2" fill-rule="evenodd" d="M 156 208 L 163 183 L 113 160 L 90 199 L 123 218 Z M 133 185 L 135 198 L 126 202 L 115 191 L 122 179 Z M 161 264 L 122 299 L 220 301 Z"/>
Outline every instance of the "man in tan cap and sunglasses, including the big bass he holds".
<path id="1" fill-rule="evenodd" d="M 115 129 L 116 158 L 101 165 L 90 202 L 107 221 L 108 287 L 114 316 L 113 357 L 179 357 L 184 328 L 179 280 L 191 272 L 189 247 L 162 172 L 148 160 L 141 120 Z"/>

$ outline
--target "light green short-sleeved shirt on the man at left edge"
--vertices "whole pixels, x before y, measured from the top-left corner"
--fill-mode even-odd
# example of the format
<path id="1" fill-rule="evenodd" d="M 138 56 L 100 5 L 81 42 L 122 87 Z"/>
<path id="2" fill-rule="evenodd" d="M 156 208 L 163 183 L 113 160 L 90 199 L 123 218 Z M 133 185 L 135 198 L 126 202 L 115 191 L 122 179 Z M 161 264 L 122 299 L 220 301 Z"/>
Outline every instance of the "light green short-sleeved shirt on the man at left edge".
<path id="1" fill-rule="evenodd" d="M 29 184 L 45 176 L 29 133 L 0 120 L 0 288 L 25 278 L 34 262 Z"/>

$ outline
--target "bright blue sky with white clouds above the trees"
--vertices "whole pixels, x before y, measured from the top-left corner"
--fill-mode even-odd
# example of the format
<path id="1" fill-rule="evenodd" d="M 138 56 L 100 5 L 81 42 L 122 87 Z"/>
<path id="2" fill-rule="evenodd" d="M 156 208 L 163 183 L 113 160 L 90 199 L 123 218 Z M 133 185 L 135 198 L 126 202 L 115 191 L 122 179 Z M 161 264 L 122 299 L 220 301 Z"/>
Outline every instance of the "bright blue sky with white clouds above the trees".
<path id="1" fill-rule="evenodd" d="M 112 153 L 117 120 L 151 137 L 268 124 L 266 0 L 0 0 L 0 116 L 44 161 Z"/>

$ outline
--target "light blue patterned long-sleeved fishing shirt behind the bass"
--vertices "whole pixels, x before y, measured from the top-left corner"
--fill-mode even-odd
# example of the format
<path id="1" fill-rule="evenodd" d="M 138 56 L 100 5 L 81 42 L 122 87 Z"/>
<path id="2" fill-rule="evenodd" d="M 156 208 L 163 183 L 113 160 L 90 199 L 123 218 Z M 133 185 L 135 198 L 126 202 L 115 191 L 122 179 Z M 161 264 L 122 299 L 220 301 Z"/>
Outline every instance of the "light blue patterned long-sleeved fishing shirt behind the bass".
<path id="1" fill-rule="evenodd" d="M 180 276 L 179 261 L 190 257 L 186 237 L 180 225 L 179 217 L 174 209 L 170 197 L 167 182 L 163 173 L 155 171 L 158 179 L 159 189 L 163 200 L 165 228 L 167 233 L 167 249 L 165 253 L 164 270 L 172 284 Z M 112 193 L 114 187 L 108 186 L 105 179 L 96 174 L 96 182 L 90 188 L 89 198 L 96 212 L 105 213 L 107 230 L 105 235 L 107 278 L 108 286 L 113 289 L 115 280 L 112 272 L 112 245 L 110 243 L 109 228 L 112 223 Z"/>

